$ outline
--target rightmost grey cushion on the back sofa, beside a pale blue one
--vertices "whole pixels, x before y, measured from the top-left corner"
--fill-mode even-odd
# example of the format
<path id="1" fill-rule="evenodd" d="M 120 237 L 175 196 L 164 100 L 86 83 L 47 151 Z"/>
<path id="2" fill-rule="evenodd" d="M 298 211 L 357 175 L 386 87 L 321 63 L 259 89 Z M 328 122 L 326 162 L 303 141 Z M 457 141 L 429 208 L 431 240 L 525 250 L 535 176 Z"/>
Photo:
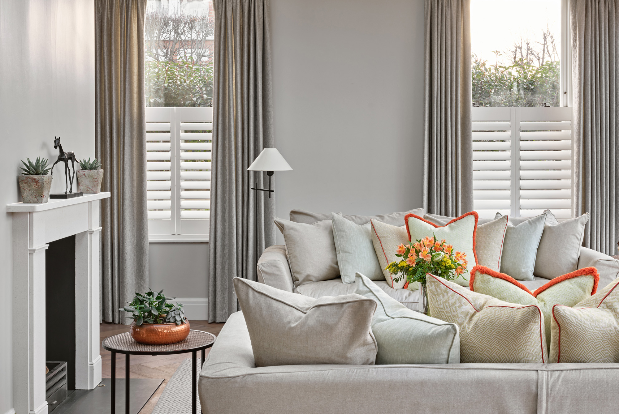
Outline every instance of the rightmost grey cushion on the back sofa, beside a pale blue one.
<path id="1" fill-rule="evenodd" d="M 578 268 L 578 255 L 589 213 L 562 222 L 558 222 L 550 210 L 544 213 L 547 219 L 537 247 L 533 273 L 535 276 L 553 279 Z"/>

